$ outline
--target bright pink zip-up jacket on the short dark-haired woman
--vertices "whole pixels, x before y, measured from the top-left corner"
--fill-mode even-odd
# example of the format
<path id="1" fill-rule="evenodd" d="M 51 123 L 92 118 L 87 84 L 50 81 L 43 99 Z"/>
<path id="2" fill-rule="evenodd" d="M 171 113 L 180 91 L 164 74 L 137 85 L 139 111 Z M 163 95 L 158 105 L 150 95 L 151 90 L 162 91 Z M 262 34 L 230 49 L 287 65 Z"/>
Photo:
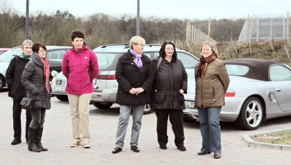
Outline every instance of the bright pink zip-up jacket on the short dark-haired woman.
<path id="1" fill-rule="evenodd" d="M 69 94 L 88 94 L 94 92 L 89 76 L 89 62 L 92 67 L 92 80 L 97 77 L 99 66 L 96 53 L 84 43 L 79 52 L 72 46 L 62 58 L 62 73 L 67 77 L 66 92 Z"/>

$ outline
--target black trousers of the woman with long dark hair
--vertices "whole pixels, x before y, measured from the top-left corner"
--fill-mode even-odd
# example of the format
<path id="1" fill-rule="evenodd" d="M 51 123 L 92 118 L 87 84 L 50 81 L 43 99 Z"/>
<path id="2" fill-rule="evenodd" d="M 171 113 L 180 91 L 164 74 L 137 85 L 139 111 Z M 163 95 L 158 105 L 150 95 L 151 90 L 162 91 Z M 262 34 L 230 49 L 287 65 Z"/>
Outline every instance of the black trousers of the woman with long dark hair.
<path id="1" fill-rule="evenodd" d="M 175 145 L 184 146 L 183 110 L 155 110 L 155 113 L 157 115 L 157 139 L 159 145 L 168 143 L 167 127 L 168 116 L 170 116 L 170 123 L 175 134 Z"/>

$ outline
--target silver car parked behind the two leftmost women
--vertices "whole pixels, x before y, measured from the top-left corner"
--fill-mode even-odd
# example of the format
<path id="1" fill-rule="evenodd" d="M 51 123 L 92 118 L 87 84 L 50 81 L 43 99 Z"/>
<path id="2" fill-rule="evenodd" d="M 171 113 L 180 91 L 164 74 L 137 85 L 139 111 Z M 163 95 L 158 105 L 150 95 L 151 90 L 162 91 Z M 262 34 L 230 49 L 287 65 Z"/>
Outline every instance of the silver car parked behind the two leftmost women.
<path id="1" fill-rule="evenodd" d="M 48 58 L 49 62 L 49 69 L 50 71 L 62 71 L 62 55 L 66 51 L 69 51 L 71 49 L 70 46 L 46 46 L 46 58 Z M 9 51 L 6 51 L 5 53 L 0 55 L 0 91 L 3 89 L 3 87 L 6 87 L 6 70 L 8 68 L 8 65 L 10 64 L 11 59 L 14 57 L 14 55 L 21 55 L 22 53 L 21 46 L 17 46 L 15 48 L 10 49 Z M 50 76 L 50 80 L 53 78 L 53 76 Z"/>

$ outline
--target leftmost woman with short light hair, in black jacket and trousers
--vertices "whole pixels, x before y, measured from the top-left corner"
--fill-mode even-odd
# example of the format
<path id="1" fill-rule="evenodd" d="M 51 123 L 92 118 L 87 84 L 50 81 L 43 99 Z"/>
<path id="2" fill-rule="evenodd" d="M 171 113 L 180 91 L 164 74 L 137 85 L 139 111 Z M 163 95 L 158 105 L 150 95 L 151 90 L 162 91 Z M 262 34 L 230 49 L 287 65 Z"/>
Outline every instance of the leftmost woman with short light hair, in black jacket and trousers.
<path id="1" fill-rule="evenodd" d="M 21 143 L 21 105 L 20 102 L 25 96 L 26 89 L 21 84 L 21 75 L 24 71 L 24 67 L 27 62 L 30 61 L 32 53 L 33 42 L 30 40 L 24 40 L 21 44 L 21 49 L 23 53 L 21 55 L 16 55 L 12 58 L 8 69 L 6 71 L 6 83 L 8 89 L 10 90 L 10 96 L 13 98 L 13 130 L 14 130 L 14 140 L 11 145 L 16 145 Z M 28 143 L 28 127 L 31 121 L 30 110 L 26 110 L 26 143 Z"/>

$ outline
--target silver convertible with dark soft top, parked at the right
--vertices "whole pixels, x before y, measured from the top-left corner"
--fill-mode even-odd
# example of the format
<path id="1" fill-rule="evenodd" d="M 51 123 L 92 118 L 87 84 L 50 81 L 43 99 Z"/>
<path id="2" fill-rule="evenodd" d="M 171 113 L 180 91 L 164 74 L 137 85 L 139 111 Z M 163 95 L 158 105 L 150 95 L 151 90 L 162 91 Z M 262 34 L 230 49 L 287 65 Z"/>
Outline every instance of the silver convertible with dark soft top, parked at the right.
<path id="1" fill-rule="evenodd" d="M 281 62 L 254 58 L 224 60 L 229 73 L 220 121 L 255 130 L 263 121 L 291 115 L 291 68 Z M 184 119 L 199 119 L 195 105 L 195 79 L 188 80 Z"/>

